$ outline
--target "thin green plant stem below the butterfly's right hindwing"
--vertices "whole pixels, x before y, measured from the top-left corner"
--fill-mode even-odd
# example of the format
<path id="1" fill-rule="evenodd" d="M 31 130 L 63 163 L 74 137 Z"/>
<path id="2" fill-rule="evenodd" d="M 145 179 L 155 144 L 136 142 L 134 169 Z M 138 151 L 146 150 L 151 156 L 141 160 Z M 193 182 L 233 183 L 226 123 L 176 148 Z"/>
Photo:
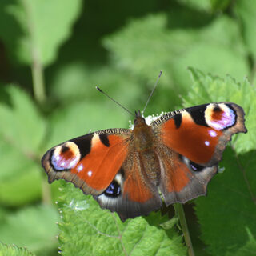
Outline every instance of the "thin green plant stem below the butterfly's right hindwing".
<path id="1" fill-rule="evenodd" d="M 181 226 L 182 226 L 182 233 L 184 235 L 184 239 L 186 242 L 188 254 L 189 254 L 189 256 L 194 256 L 194 249 L 193 249 L 192 242 L 190 239 L 190 232 L 186 225 L 186 217 L 185 217 L 185 213 L 183 210 L 183 206 L 181 203 L 175 203 L 174 209 L 175 209 L 176 214 L 178 215 L 179 222 L 181 223 Z"/>

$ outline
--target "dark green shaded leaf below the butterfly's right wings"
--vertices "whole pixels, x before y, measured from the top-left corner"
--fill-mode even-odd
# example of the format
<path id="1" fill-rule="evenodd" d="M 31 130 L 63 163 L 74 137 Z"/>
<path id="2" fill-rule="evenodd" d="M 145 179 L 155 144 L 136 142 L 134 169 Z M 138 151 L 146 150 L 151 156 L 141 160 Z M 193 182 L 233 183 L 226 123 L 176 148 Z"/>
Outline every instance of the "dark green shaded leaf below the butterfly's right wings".
<path id="1" fill-rule="evenodd" d="M 212 255 L 234 255 L 250 242 L 246 230 L 256 234 L 255 156 L 255 150 L 226 149 L 220 163 L 225 171 L 210 182 L 207 197 L 195 201 L 202 240 Z"/>

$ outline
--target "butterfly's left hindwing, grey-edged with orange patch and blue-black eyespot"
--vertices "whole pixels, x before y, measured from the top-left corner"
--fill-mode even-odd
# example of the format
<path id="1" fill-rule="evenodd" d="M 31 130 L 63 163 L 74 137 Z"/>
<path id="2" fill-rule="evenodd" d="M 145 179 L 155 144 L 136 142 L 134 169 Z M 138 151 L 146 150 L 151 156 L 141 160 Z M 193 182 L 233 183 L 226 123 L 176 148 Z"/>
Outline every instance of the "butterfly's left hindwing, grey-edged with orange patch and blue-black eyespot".
<path id="1" fill-rule="evenodd" d="M 162 206 L 158 188 L 146 176 L 138 152 L 128 154 L 109 189 L 94 198 L 102 208 L 117 212 L 122 221 L 149 214 Z"/>

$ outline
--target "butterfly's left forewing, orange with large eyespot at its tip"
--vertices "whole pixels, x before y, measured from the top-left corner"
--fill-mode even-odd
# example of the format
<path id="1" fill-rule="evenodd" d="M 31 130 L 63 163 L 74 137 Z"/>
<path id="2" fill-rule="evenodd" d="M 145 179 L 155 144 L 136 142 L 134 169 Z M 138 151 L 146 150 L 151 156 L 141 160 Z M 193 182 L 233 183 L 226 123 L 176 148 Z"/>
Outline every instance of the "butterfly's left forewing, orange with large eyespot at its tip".
<path id="1" fill-rule="evenodd" d="M 48 150 L 42 166 L 49 182 L 62 178 L 85 194 L 102 194 L 126 159 L 129 138 L 126 129 L 86 134 Z"/>

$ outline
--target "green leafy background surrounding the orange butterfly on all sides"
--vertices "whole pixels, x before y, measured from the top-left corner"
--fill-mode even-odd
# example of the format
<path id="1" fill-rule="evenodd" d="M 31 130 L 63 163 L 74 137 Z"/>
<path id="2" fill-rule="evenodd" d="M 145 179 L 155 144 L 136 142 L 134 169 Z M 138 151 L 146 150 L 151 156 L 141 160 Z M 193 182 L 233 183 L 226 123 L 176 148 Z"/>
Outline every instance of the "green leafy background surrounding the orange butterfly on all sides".
<path id="1" fill-rule="evenodd" d="M 196 255 L 256 255 L 255 31 L 254 0 L 1 0 L 0 256 L 186 255 L 172 206 L 122 223 L 73 185 L 48 185 L 40 164 L 60 142 L 128 126 L 94 86 L 134 111 L 160 70 L 146 114 L 244 108 L 248 133 L 184 208 Z"/>

